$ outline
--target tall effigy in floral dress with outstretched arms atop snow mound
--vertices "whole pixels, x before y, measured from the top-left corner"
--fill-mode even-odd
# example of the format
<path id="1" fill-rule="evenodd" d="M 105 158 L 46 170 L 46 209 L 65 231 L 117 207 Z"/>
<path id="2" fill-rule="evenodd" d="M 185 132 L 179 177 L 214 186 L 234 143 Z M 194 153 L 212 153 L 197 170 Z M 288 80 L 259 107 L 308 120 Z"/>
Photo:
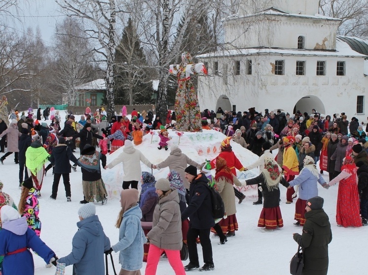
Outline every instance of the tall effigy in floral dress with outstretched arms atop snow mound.
<path id="1" fill-rule="evenodd" d="M 202 131 L 201 113 L 199 110 L 198 96 L 190 79 L 191 74 L 207 70 L 203 63 L 194 64 L 189 53 L 182 54 L 180 65 L 170 65 L 170 73 L 178 77 L 178 90 L 175 98 L 176 128 L 178 131 Z"/>

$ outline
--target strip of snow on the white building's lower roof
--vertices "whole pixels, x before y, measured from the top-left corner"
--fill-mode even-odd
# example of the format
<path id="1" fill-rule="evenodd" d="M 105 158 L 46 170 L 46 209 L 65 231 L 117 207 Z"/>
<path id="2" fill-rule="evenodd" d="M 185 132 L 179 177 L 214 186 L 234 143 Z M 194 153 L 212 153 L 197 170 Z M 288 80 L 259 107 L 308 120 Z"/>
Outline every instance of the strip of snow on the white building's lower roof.
<path id="1" fill-rule="evenodd" d="M 298 49 L 281 49 L 281 48 L 247 48 L 223 50 L 214 53 L 198 55 L 196 58 L 205 59 L 213 57 L 231 57 L 231 56 L 251 56 L 251 55 L 291 55 L 291 56 L 326 56 L 326 57 L 358 57 L 367 58 L 352 50 L 350 46 L 343 41 L 336 40 L 336 51 L 323 50 L 298 50 Z"/>

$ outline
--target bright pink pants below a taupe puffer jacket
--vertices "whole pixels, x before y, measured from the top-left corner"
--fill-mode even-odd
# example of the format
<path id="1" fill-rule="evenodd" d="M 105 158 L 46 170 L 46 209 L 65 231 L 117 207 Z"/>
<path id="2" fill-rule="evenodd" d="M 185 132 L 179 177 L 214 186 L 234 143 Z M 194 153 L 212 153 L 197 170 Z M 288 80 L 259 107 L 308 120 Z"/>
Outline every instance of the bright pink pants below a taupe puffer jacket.
<path id="1" fill-rule="evenodd" d="M 175 275 L 185 275 L 184 266 L 180 259 L 180 250 L 161 249 L 153 244 L 149 244 L 145 275 L 156 275 L 158 261 L 163 251 L 165 251 Z"/>

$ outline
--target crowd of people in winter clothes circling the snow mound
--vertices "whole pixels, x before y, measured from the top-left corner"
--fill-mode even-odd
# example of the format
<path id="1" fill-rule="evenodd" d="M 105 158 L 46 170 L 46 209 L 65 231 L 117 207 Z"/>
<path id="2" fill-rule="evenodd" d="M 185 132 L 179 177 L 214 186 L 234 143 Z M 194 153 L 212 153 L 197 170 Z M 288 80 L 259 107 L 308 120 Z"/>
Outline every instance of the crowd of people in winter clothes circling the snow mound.
<path id="1" fill-rule="evenodd" d="M 12 112 L 9 127 L 6 123 L 6 127 L 2 127 L 4 121 L 0 119 L 0 142 L 4 146 L 7 137 L 7 153 L 1 156 L 0 162 L 3 164 L 5 158 L 14 153 L 14 162 L 19 164 L 19 186 L 22 188 L 18 208 L 9 195 L 4 195 L 5 203 L 0 206 L 1 222 L 4 225 L 10 223 L 12 228 L 13 224 L 24 224 L 25 220 L 39 238 L 41 221 L 38 217 L 37 197 L 41 196 L 44 176 L 52 168 L 52 200 L 57 198 L 59 181 L 63 176 L 67 202 L 71 202 L 70 173 L 80 166 L 84 198 L 80 201 L 83 206 L 78 211 L 79 230 L 74 236 L 71 254 L 60 259 L 40 240 L 34 244 L 30 242 L 25 250 L 22 248 L 25 244 L 21 241 L 19 247 L 11 251 L 0 245 L 0 255 L 5 255 L 2 265 L 4 274 L 16 274 L 13 273 L 14 268 L 17 271 L 20 268 L 9 264 L 12 258 L 9 255 L 13 255 L 14 251 L 25 253 L 25 260 L 29 261 L 26 251 L 32 248 L 48 265 L 54 264 L 58 269 L 74 265 L 75 274 L 103 274 L 104 252 L 120 252 L 120 275 L 139 275 L 143 261 L 147 262 L 146 274 L 156 274 L 159 257 L 164 251 L 175 274 L 182 275 L 185 271 L 200 267 L 197 252 L 199 242 L 204 262 L 199 270 L 213 270 L 215 266 L 210 232 L 219 236 L 220 244 L 225 244 L 227 238 L 235 236 L 238 230 L 235 197 L 240 204 L 245 194 L 234 185 L 241 187 L 258 184 L 258 200 L 254 205 L 263 204 L 258 227 L 264 228 L 264 231 L 283 227 L 279 207 L 280 184 L 287 188 L 287 204 L 292 204 L 298 193 L 294 214 L 294 224 L 297 226 L 308 228 L 308 218 L 312 219 L 311 214 L 317 210 L 321 219 L 326 220 L 324 214 L 321 214 L 323 202 L 321 206 L 317 184 L 328 189 L 337 182 L 337 224 L 344 227 L 368 225 L 368 138 L 358 120 L 352 118 L 349 123 L 344 113 L 334 114 L 331 119 L 331 116 L 319 114 L 314 109 L 311 115 L 296 112 L 293 116 L 281 110 L 274 113 L 265 109 L 262 114 L 250 108 L 249 112 L 242 115 L 241 112 L 226 112 L 221 108 L 216 113 L 206 109 L 201 113 L 202 128 L 214 129 L 226 135 L 221 142 L 219 155 L 207 164 L 197 163 L 182 153 L 179 146 L 174 145 L 170 147 L 167 159 L 153 164 L 139 150 L 139 145 L 145 134 L 158 129 L 162 135 L 158 149 L 168 150 L 165 143 L 168 139 L 167 130 L 175 130 L 175 112 L 168 112 L 165 123 L 162 123 L 158 116 L 154 118 L 150 110 L 147 115 L 145 111 L 140 114 L 134 110 L 131 119 L 127 117 L 126 110 L 125 113 L 122 110 L 121 116 L 112 117 L 108 122 L 104 108 L 97 109 L 94 114 L 88 108 L 79 122 L 75 121 L 72 114 L 68 115 L 62 128 L 59 112 L 51 109 L 43 111 L 45 121 L 50 116 L 50 125 L 42 122 L 40 108 L 36 120 L 33 118 L 33 110 L 29 110 L 27 118 L 24 114 L 19 118 L 17 111 Z M 258 161 L 243 166 L 233 152 L 232 142 L 257 154 Z M 79 158 L 73 154 L 76 147 L 80 150 Z M 121 153 L 107 163 L 106 155 L 121 147 Z M 278 153 L 275 159 L 272 150 L 276 149 Z M 4 152 L 3 147 L 1 151 Z M 47 161 L 50 164 L 45 167 Z M 152 171 L 169 167 L 170 173 L 165 179 L 155 179 L 152 171 L 141 171 L 140 162 Z M 123 190 L 120 194 L 121 211 L 116 222 L 119 241 L 110 245 L 93 203 L 101 202 L 105 205 L 108 199 L 101 169 L 112 169 L 119 163 L 123 163 L 124 171 Z M 256 167 L 260 171 L 258 177 L 239 182 L 236 170 L 242 172 Z M 215 170 L 214 177 L 211 169 Z M 329 182 L 321 176 L 324 171 L 329 174 Z M 139 182 L 141 192 L 138 191 Z M 226 214 L 220 220 L 215 221 L 212 215 L 213 201 L 209 186 L 217 189 L 223 201 Z M 21 217 L 11 209 L 18 211 Z M 329 226 L 329 223 L 325 222 L 324 226 Z M 330 237 L 323 245 L 331 242 L 330 227 L 326 228 L 330 230 Z M 7 229 L 7 225 L 2 228 Z M 9 230 L 10 233 L 6 234 L 17 234 L 14 229 Z M 0 239 L 9 238 L 5 231 L 0 231 Z M 303 235 L 295 234 L 294 239 L 307 249 L 316 241 L 307 240 L 304 231 Z M 36 238 L 28 232 L 24 229 L 18 235 L 26 234 L 27 238 Z M 83 243 L 81 240 L 85 238 L 90 241 L 87 247 L 80 249 Z M 183 249 L 187 249 L 189 255 L 189 263 L 185 267 L 181 261 Z M 41 250 L 44 252 L 38 253 Z M 95 260 L 97 266 L 93 271 L 88 265 L 91 259 Z"/>

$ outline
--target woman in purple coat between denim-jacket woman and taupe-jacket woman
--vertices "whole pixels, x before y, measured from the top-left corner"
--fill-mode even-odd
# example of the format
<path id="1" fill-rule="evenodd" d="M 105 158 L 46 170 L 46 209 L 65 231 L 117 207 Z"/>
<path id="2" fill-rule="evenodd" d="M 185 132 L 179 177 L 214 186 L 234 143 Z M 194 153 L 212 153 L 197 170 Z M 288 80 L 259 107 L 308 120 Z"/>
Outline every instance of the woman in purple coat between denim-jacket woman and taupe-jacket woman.
<path id="1" fill-rule="evenodd" d="M 151 173 L 142 172 L 142 190 L 139 195 L 139 208 L 142 211 L 141 224 L 145 235 L 147 236 L 149 230 L 152 228 L 152 220 L 153 220 L 153 211 L 158 202 L 158 196 L 156 194 L 156 187 L 154 184 L 156 180 Z M 149 244 L 145 244 L 143 246 L 144 256 L 143 261 L 147 262 Z"/>

